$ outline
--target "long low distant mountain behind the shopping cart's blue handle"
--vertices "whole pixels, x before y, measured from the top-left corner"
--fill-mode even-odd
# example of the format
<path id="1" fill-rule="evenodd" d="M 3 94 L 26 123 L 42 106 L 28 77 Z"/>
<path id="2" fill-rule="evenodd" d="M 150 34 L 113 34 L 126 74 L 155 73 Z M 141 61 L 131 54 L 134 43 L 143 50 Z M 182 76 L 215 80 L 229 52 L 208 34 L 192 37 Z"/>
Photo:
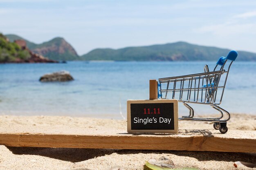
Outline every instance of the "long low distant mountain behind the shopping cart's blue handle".
<path id="1" fill-rule="evenodd" d="M 116 50 L 94 49 L 82 55 L 81 58 L 82 60 L 115 61 L 217 61 L 219 57 L 226 56 L 229 51 L 229 49 L 175 42 L 151 46 L 126 47 Z M 237 60 L 256 61 L 256 53 L 238 51 Z"/>

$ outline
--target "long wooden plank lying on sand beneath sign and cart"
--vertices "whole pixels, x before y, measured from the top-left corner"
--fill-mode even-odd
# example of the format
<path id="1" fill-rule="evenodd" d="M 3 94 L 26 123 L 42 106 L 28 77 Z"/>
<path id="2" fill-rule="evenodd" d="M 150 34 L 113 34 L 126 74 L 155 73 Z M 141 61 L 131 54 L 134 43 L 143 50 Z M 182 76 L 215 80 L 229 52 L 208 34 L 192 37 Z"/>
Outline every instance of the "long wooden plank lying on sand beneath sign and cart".
<path id="1" fill-rule="evenodd" d="M 256 131 L 179 130 L 179 134 L 130 134 L 99 128 L 0 127 L 0 144 L 51 148 L 109 148 L 256 152 Z"/>

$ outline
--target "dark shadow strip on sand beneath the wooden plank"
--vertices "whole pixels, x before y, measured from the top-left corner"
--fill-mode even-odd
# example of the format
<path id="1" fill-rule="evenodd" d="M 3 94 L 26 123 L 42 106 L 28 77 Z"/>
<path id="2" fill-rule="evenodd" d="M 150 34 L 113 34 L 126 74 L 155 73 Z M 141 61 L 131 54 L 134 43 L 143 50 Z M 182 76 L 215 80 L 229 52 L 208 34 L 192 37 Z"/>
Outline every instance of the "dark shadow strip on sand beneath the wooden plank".
<path id="1" fill-rule="evenodd" d="M 40 155 L 72 163 L 85 161 L 95 157 L 127 154 L 173 154 L 182 157 L 193 157 L 198 161 L 244 161 L 255 162 L 256 153 L 236 152 L 202 152 L 202 151 L 175 151 L 175 150 L 116 150 L 116 149 L 83 149 L 83 148 L 32 148 L 32 147 L 7 147 L 15 155 Z"/>

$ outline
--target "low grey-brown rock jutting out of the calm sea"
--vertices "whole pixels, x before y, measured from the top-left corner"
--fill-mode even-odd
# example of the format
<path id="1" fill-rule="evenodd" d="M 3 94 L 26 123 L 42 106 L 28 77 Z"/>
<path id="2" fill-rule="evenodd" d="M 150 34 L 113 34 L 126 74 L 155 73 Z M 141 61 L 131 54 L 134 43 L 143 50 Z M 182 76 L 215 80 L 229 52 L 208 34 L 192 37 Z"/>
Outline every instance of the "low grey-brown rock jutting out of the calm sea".
<path id="1" fill-rule="evenodd" d="M 66 82 L 74 80 L 68 71 L 58 71 L 54 73 L 48 73 L 40 77 L 40 82 Z"/>

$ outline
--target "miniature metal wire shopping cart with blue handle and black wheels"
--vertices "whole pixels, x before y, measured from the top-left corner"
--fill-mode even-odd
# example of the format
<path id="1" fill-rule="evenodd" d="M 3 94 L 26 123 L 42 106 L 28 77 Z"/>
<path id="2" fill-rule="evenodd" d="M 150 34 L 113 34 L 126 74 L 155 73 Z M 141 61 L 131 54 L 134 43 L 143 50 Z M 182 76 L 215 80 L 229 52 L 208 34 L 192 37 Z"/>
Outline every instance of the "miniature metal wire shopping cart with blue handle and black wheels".
<path id="1" fill-rule="evenodd" d="M 230 114 L 218 105 L 222 101 L 229 68 L 236 60 L 237 55 L 236 51 L 230 51 L 227 57 L 220 57 L 213 71 L 209 71 L 208 65 L 205 65 L 204 73 L 158 79 L 158 97 L 177 99 L 179 102 L 183 102 L 184 106 L 189 109 L 189 115 L 182 116 L 179 120 L 212 121 L 214 129 L 226 133 Z M 226 64 L 227 70 L 224 69 Z M 218 67 L 220 67 L 219 70 Z M 220 116 L 196 118 L 193 108 L 188 103 L 210 105 L 220 112 Z"/>

